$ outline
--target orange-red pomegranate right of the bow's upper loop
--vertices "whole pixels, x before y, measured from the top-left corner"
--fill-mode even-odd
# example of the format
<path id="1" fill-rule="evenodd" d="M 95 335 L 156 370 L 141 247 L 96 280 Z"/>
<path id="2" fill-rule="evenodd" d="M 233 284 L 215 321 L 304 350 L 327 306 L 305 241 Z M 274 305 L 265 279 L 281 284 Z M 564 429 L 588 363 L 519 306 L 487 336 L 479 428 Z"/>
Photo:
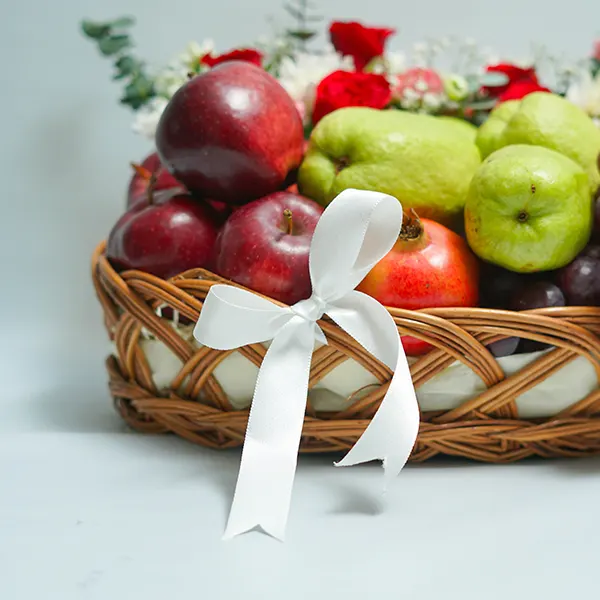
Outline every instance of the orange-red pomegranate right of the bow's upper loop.
<path id="1" fill-rule="evenodd" d="M 423 236 L 398 239 L 392 250 L 357 287 L 384 306 L 419 310 L 477 306 L 479 264 L 466 241 L 443 225 L 421 219 Z M 402 336 L 409 356 L 420 356 L 431 344 Z"/>

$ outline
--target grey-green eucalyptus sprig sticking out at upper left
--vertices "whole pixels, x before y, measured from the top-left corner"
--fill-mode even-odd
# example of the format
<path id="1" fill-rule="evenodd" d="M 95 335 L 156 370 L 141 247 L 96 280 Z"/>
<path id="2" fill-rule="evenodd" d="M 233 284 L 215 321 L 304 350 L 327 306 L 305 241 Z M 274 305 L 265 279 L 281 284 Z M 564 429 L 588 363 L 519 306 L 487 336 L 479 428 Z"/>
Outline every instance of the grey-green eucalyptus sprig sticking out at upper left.
<path id="1" fill-rule="evenodd" d="M 103 56 L 113 59 L 113 80 L 125 82 L 121 104 L 137 110 L 154 98 L 156 92 L 152 78 L 146 74 L 145 63 L 130 52 L 134 44 L 128 29 L 134 24 L 135 19 L 129 16 L 105 22 L 84 19 L 81 21 L 81 30 L 96 42 Z"/>

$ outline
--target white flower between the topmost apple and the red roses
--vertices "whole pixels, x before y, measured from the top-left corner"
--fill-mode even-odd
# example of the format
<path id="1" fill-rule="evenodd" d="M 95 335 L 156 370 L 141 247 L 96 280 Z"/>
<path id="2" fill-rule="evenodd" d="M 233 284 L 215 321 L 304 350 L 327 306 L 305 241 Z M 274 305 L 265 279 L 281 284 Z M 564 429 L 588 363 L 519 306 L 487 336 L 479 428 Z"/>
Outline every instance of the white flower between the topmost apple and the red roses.
<path id="1" fill-rule="evenodd" d="M 298 104 L 304 105 L 306 118 L 312 115 L 319 82 L 333 71 L 352 71 L 351 57 L 343 57 L 332 46 L 323 54 L 300 52 L 281 61 L 279 83 Z"/>

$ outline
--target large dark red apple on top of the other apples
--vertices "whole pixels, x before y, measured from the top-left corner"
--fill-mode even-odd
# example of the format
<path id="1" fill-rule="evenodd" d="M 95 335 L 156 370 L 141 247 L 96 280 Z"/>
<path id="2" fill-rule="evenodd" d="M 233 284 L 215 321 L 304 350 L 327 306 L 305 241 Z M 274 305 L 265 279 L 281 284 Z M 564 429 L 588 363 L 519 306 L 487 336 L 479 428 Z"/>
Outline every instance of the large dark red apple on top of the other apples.
<path id="1" fill-rule="evenodd" d="M 302 160 L 304 132 L 275 78 L 229 61 L 177 90 L 159 121 L 156 147 L 194 194 L 245 204 L 285 187 Z"/>

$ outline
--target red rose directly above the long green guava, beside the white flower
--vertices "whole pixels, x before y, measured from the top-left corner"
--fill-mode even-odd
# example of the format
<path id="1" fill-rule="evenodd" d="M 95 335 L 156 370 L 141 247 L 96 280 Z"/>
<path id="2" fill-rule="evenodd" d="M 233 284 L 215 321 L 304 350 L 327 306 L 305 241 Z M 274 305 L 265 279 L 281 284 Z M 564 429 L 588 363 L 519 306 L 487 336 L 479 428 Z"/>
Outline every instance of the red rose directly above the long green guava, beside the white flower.
<path id="1" fill-rule="evenodd" d="M 345 106 L 385 108 L 392 98 L 390 84 L 383 75 L 334 71 L 317 86 L 312 122 Z"/>

